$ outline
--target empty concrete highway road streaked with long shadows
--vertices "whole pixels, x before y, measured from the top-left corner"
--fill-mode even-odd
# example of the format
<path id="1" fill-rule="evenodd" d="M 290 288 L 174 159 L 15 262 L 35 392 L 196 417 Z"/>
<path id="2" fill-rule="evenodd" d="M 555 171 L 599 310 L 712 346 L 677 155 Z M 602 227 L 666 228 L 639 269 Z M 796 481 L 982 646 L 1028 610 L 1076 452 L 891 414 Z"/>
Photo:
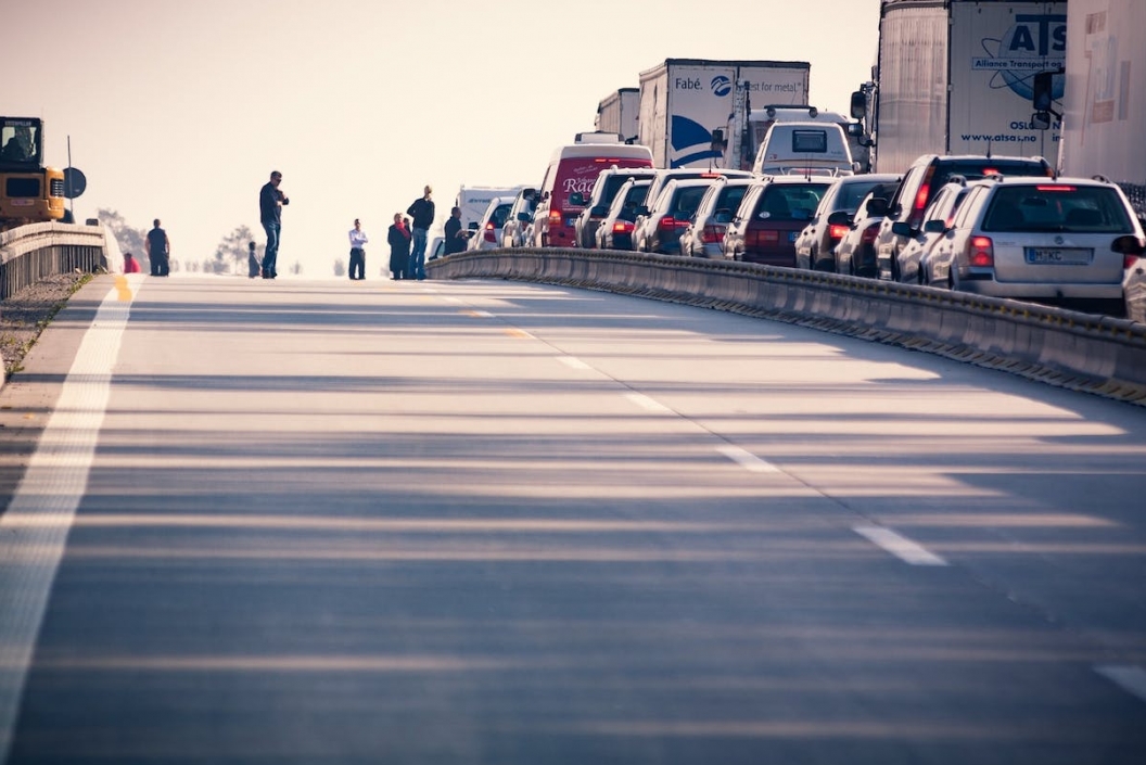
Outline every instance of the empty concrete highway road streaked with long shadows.
<path id="1" fill-rule="evenodd" d="M 602 292 L 105 276 L 0 425 L 0 763 L 1146 762 L 1144 408 Z"/>

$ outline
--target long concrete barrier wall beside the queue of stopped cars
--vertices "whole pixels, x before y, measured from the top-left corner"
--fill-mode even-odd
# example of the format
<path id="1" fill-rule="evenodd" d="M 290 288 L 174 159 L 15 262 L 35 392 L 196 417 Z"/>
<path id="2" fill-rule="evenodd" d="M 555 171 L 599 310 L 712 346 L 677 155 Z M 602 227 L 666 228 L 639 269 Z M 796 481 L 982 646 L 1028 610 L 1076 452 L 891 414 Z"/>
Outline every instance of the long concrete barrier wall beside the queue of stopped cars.
<path id="1" fill-rule="evenodd" d="M 670 300 L 862 337 L 1146 405 L 1146 325 L 935 287 L 753 263 L 490 250 L 431 278 L 505 278 Z"/>

